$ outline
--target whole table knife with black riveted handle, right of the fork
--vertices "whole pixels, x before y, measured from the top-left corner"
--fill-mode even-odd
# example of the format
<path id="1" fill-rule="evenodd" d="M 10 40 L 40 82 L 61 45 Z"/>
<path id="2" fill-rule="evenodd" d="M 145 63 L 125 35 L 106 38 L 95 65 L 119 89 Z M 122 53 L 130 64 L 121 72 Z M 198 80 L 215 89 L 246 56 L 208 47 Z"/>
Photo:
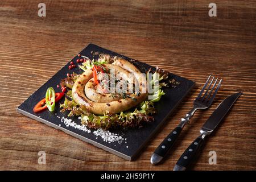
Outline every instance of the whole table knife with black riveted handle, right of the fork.
<path id="1" fill-rule="evenodd" d="M 191 164 L 192 160 L 195 159 L 197 152 L 200 150 L 205 137 L 210 135 L 218 124 L 222 121 L 225 115 L 228 113 L 234 102 L 237 98 L 240 97 L 242 92 L 232 94 L 231 96 L 225 98 L 220 105 L 213 111 L 212 115 L 204 123 L 203 127 L 200 130 L 200 136 L 197 137 L 191 145 L 185 150 L 185 152 L 180 156 L 177 161 L 174 171 L 185 171 Z"/>

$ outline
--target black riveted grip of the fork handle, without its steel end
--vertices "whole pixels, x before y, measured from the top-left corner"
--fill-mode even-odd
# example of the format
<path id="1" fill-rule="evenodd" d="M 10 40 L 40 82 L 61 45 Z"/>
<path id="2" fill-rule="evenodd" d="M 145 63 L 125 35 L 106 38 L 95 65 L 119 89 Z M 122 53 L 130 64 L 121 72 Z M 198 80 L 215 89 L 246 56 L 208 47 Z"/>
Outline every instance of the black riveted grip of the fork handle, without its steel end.
<path id="1" fill-rule="evenodd" d="M 181 130 L 182 130 L 181 127 L 179 126 L 175 127 L 175 129 L 171 131 L 171 133 L 163 140 L 163 142 L 160 143 L 158 148 L 156 148 L 154 154 L 158 154 L 162 158 L 166 156 L 168 152 L 171 150 L 172 146 L 174 146 L 176 139 L 179 137 L 181 133 Z"/>

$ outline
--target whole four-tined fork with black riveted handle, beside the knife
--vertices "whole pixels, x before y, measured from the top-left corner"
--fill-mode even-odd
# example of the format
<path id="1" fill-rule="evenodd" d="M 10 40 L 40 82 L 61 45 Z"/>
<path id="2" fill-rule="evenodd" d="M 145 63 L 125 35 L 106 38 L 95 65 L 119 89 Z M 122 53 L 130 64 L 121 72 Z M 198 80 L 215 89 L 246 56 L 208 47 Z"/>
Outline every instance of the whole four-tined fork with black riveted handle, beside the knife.
<path id="1" fill-rule="evenodd" d="M 175 127 L 175 129 L 171 131 L 171 133 L 163 140 L 163 142 L 160 143 L 158 148 L 156 148 L 150 159 L 151 164 L 158 164 L 168 154 L 172 146 L 174 146 L 174 143 L 176 142 L 179 134 L 181 133 L 181 130 L 187 123 L 189 123 L 189 119 L 193 117 L 193 114 L 195 114 L 198 109 L 207 109 L 208 107 L 210 107 L 210 105 L 212 105 L 212 102 L 218 92 L 218 89 L 220 88 L 222 80 L 218 82 L 218 85 L 216 87 L 218 78 L 216 78 L 216 80 L 214 81 L 214 76 L 212 77 L 212 79 L 210 79 L 211 77 L 211 75 L 208 77 L 203 88 L 201 89 L 201 92 L 193 102 L 193 109 L 191 109 L 191 111 L 189 111 L 184 118 L 180 119 L 179 125 Z M 216 89 L 214 90 L 215 87 Z"/>

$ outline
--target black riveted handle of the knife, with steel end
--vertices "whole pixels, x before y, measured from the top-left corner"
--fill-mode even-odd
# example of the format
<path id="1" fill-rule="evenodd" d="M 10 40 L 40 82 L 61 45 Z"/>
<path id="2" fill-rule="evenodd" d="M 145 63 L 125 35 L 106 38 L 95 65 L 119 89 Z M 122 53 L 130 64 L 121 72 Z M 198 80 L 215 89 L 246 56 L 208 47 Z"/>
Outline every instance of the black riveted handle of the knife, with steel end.
<path id="1" fill-rule="evenodd" d="M 204 142 L 204 137 L 200 135 L 197 137 L 191 145 L 184 151 L 184 153 L 180 156 L 177 161 L 174 171 L 185 171 L 188 168 L 189 164 L 195 159 L 197 152 L 200 150 L 202 144 Z"/>

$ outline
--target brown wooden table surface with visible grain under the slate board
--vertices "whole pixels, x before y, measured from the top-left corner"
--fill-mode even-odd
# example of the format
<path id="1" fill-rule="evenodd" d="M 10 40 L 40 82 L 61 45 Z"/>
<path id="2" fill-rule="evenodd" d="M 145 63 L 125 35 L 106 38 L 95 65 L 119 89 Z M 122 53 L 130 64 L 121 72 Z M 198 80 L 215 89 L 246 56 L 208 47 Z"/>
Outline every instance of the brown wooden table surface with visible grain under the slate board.
<path id="1" fill-rule="evenodd" d="M 207 140 L 191 169 L 256 169 L 256 3 L 214 1 L 0 1 L 0 169 L 172 170 L 225 97 L 243 95 Z M 16 107 L 87 44 L 122 53 L 196 81 L 137 160 L 126 161 L 62 131 L 18 114 Z M 191 109 L 207 76 L 223 78 L 216 102 L 185 126 L 174 152 L 159 165 L 150 156 Z M 46 151 L 46 165 L 38 152 Z M 216 151 L 217 164 L 208 163 Z"/>

